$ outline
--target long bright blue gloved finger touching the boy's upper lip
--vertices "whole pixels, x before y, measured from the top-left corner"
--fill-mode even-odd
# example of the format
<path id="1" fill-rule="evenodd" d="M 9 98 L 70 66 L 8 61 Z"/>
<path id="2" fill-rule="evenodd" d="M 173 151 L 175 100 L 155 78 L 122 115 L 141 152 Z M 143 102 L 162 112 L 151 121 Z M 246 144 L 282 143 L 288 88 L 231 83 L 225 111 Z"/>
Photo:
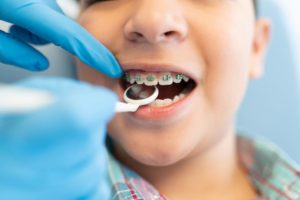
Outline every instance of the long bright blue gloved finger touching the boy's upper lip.
<path id="1" fill-rule="evenodd" d="M 85 64 L 108 76 L 120 77 L 122 74 L 118 62 L 107 48 L 76 22 L 48 6 L 24 6 L 18 11 L 18 15 L 6 18 L 64 48 Z"/>

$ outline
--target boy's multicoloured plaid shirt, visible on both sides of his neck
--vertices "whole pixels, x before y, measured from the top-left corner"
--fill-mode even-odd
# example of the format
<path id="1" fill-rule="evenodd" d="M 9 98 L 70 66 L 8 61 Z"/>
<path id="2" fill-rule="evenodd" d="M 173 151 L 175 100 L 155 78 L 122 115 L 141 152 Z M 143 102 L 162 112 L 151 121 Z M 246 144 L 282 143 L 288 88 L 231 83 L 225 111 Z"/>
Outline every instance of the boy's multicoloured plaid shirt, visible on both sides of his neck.
<path id="1" fill-rule="evenodd" d="M 262 139 L 238 137 L 242 166 L 257 189 L 258 199 L 300 200 L 300 168 L 274 145 Z M 109 157 L 112 200 L 167 200 L 150 183 Z"/>

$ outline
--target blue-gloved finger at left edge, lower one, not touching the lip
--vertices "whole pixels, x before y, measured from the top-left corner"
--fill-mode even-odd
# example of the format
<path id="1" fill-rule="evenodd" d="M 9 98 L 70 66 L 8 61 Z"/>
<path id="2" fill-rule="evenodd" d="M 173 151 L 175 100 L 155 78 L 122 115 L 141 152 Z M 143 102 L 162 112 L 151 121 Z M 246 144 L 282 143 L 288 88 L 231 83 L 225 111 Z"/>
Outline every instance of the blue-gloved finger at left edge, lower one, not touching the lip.
<path id="1" fill-rule="evenodd" d="M 49 66 L 40 52 L 3 31 L 0 31 L 0 62 L 31 71 L 42 71 Z"/>

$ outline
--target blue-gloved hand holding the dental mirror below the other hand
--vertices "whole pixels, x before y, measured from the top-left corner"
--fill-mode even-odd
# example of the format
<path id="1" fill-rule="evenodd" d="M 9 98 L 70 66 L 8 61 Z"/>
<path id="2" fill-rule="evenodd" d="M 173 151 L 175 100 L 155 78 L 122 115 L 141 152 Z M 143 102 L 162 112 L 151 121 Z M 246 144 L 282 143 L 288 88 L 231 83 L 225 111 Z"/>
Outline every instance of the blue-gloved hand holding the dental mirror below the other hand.
<path id="1" fill-rule="evenodd" d="M 104 139 L 117 97 L 58 78 L 20 85 L 57 101 L 32 113 L 0 114 L 0 199 L 111 199 Z"/>

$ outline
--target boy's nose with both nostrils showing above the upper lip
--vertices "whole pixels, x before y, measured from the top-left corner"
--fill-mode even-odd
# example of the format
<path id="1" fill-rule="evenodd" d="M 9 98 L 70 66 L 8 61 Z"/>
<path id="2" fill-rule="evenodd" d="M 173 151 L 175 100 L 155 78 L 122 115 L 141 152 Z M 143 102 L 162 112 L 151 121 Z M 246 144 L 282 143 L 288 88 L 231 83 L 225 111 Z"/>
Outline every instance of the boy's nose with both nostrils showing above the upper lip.
<path id="1" fill-rule="evenodd" d="M 174 1 L 139 0 L 124 26 L 124 33 L 131 42 L 180 42 L 187 36 L 188 27 Z"/>

